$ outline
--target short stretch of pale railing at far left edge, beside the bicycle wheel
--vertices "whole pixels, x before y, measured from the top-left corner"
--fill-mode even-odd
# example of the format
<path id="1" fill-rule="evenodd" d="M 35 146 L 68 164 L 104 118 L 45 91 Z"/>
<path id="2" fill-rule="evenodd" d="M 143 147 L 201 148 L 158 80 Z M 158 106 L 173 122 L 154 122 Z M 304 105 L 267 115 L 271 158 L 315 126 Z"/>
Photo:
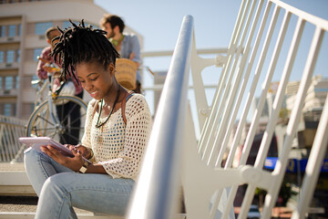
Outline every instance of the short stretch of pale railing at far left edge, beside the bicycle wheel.
<path id="1" fill-rule="evenodd" d="M 0 115 L 0 162 L 23 161 L 21 154 L 22 144 L 19 137 L 25 136 L 26 120 Z"/>

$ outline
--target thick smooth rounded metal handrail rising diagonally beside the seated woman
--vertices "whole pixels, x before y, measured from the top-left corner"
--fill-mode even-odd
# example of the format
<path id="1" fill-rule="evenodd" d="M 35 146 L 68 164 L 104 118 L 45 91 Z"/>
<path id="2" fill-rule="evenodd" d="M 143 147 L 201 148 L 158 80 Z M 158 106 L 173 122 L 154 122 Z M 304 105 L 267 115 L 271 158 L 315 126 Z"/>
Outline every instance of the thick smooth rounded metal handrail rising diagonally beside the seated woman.
<path id="1" fill-rule="evenodd" d="M 172 218 L 174 214 L 192 39 L 193 18 L 185 16 L 128 209 L 128 218 Z"/>

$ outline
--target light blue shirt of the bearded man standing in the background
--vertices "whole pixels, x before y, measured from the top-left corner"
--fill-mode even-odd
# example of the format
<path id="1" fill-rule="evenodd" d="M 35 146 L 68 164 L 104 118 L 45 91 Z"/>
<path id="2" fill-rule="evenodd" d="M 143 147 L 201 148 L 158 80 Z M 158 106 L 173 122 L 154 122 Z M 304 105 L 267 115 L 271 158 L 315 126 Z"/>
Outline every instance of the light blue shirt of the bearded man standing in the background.
<path id="1" fill-rule="evenodd" d="M 132 59 L 134 62 L 141 64 L 141 55 L 140 55 L 140 44 L 138 42 L 138 36 L 134 34 L 124 34 L 124 39 L 121 44 L 121 57 L 128 58 L 131 53 L 135 53 L 135 57 Z M 141 76 L 139 71 L 137 71 L 137 80 L 141 82 Z"/>

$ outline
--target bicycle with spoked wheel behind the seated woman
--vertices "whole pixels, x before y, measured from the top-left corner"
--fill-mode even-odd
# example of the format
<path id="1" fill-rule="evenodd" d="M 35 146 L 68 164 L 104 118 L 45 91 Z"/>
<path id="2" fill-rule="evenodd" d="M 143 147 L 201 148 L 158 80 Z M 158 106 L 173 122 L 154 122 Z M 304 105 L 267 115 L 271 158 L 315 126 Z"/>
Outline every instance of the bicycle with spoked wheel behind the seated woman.
<path id="1" fill-rule="evenodd" d="M 52 64 L 54 65 L 54 64 Z M 53 66 L 60 71 L 56 65 Z M 32 85 L 37 85 L 35 110 L 32 112 L 26 126 L 27 137 L 50 137 L 61 143 L 71 143 L 70 141 L 80 142 L 84 133 L 84 124 L 87 115 L 87 104 L 76 96 L 61 96 L 60 91 L 63 89 L 62 84 L 56 92 L 52 92 L 54 85 L 54 76 L 52 73 L 47 74 L 45 80 L 34 80 Z M 46 100 L 43 100 L 44 92 L 48 89 Z M 68 112 L 58 111 L 58 106 L 73 102 L 74 104 Z M 69 120 L 69 115 L 73 110 L 80 110 L 80 115 L 75 120 Z M 63 115 L 62 118 L 58 114 Z M 75 132 L 75 134 L 72 134 Z M 65 136 L 65 137 L 63 137 Z M 68 139 L 68 140 L 67 140 Z"/>

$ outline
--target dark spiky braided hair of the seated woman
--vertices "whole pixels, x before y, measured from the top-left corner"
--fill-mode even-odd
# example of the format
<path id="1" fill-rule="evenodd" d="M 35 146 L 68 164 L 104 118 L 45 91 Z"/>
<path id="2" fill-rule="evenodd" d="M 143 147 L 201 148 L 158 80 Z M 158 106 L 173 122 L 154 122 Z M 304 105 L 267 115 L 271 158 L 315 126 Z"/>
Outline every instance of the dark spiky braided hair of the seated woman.
<path id="1" fill-rule="evenodd" d="M 73 26 L 64 30 L 57 26 L 61 35 L 56 36 L 59 41 L 52 52 L 56 63 L 63 68 L 61 78 L 73 77 L 78 83 L 75 66 L 82 62 L 97 60 L 105 69 L 110 63 L 115 66 L 119 54 L 105 36 L 106 31 L 85 26 L 83 19 L 78 26 L 69 21 Z"/>

